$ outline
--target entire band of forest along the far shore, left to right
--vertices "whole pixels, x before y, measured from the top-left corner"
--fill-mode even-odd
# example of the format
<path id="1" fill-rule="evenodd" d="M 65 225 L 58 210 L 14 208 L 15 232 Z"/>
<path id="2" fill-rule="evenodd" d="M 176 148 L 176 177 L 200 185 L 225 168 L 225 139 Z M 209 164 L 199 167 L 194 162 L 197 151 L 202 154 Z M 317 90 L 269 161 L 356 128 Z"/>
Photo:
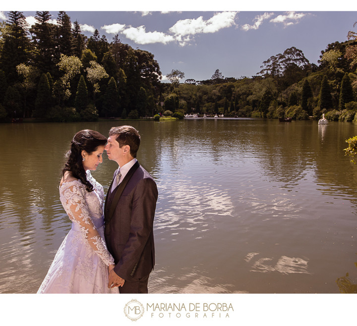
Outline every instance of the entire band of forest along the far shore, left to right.
<path id="1" fill-rule="evenodd" d="M 141 118 L 157 113 L 357 121 L 357 34 L 329 44 L 318 65 L 292 47 L 264 61 L 252 77 L 186 79 L 172 70 L 171 83 L 154 54 L 108 41 L 95 30 L 81 33 L 59 11 L 57 24 L 48 11 L 36 12 L 28 26 L 20 11 L 0 23 L 0 121 Z M 259 70 L 259 69 L 257 69 Z M 355 118 L 356 115 L 356 118 Z"/>

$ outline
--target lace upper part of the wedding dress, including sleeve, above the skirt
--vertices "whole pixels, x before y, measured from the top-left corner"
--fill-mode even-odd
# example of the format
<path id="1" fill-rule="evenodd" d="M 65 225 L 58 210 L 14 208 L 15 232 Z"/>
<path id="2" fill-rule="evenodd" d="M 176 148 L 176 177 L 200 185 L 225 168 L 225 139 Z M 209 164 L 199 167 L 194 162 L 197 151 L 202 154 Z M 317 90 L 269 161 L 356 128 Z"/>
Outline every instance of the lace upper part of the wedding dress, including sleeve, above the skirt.
<path id="1" fill-rule="evenodd" d="M 80 180 L 63 182 L 60 186 L 60 201 L 69 219 L 82 232 L 93 251 L 107 266 L 114 265 L 114 259 L 98 232 L 104 223 L 103 187 L 90 171 L 87 171 L 87 180 L 93 185 L 94 191 L 88 192 Z"/>

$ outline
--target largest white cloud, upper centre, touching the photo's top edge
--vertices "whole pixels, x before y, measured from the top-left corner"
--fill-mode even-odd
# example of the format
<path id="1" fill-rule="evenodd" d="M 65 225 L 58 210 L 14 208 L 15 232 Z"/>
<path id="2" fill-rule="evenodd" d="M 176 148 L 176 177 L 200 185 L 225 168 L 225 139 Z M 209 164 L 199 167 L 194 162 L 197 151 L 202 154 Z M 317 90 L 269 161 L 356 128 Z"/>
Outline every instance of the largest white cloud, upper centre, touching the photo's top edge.
<path id="1" fill-rule="evenodd" d="M 212 18 L 203 20 L 200 16 L 197 19 L 179 20 L 170 28 L 170 32 L 176 36 L 195 35 L 198 33 L 215 33 L 222 28 L 231 27 L 235 24 L 237 11 L 223 11 L 216 13 Z"/>

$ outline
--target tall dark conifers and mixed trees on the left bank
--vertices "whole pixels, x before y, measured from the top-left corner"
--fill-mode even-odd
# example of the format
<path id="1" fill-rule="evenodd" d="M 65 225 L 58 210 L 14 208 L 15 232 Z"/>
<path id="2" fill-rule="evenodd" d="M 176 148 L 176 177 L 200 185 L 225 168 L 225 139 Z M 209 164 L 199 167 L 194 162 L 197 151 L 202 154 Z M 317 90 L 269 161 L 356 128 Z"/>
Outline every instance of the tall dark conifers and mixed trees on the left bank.
<path id="1" fill-rule="evenodd" d="M 95 30 L 87 38 L 65 11 L 57 23 L 36 11 L 28 26 L 20 11 L 0 24 L 0 119 L 55 121 L 153 115 L 161 71 L 154 55 L 111 42 Z M 73 27 L 72 27 L 73 26 Z"/>

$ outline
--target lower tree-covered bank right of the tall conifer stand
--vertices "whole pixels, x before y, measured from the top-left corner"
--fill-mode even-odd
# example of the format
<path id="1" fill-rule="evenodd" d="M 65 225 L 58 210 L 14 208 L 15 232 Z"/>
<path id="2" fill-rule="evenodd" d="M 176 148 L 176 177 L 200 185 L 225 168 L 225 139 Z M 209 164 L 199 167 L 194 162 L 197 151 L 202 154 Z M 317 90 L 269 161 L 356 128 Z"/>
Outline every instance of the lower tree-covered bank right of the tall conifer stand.
<path id="1" fill-rule="evenodd" d="M 292 47 L 264 61 L 251 78 L 225 78 L 216 69 L 209 80 L 176 83 L 165 106 L 232 117 L 320 119 L 325 113 L 329 120 L 357 122 L 357 38 L 353 32 L 349 38 L 329 44 L 318 65 Z M 178 72 L 172 73 L 174 79 Z"/>

